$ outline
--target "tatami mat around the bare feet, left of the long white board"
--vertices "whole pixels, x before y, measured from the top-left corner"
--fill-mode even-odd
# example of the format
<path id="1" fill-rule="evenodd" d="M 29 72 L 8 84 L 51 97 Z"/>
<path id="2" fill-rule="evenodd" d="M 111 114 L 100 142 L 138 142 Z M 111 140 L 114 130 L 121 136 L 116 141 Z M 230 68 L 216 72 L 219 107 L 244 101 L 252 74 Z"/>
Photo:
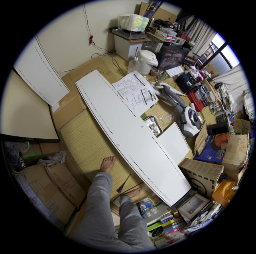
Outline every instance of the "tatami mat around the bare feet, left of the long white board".
<path id="1" fill-rule="evenodd" d="M 99 172 L 102 159 L 108 156 L 116 156 L 116 163 L 110 173 L 113 178 L 111 201 L 119 195 L 116 190 L 124 183 L 129 174 L 131 174 L 131 176 L 124 185 L 123 191 L 142 182 L 140 177 L 138 177 L 109 141 L 88 109 L 65 124 L 59 131 L 59 134 L 77 167 L 91 182 L 96 173 Z M 149 191 L 147 185 L 144 183 L 142 185 L 144 185 L 143 191 L 136 199 L 144 197 Z M 113 203 L 116 208 L 119 207 L 118 200 L 119 199 L 116 199 Z"/>

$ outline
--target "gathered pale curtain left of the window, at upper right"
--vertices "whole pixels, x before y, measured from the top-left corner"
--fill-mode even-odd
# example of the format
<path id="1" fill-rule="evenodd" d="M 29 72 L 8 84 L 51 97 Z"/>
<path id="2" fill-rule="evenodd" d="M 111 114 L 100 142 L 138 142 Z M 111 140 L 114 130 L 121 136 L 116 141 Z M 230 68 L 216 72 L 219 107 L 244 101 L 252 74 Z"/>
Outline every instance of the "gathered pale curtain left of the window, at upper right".
<path id="1" fill-rule="evenodd" d="M 195 46 L 191 51 L 201 56 L 217 32 L 213 30 L 211 26 L 203 22 L 203 20 L 198 18 L 186 34 L 195 42 Z"/>

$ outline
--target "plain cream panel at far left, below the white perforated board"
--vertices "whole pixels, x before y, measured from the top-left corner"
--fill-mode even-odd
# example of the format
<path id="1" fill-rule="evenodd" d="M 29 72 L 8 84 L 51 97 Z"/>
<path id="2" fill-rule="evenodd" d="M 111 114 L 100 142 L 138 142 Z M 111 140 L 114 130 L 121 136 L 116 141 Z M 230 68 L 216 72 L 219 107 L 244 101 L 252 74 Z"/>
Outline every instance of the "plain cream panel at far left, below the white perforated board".
<path id="1" fill-rule="evenodd" d="M 12 70 L 1 103 L 1 134 L 58 139 L 48 104 Z"/>

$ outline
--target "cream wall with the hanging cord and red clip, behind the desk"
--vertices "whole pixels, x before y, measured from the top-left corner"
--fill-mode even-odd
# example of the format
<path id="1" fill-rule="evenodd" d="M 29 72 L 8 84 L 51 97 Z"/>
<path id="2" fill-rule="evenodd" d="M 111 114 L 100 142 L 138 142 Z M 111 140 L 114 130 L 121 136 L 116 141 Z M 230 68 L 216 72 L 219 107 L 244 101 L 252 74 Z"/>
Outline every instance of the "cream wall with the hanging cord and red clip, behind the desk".
<path id="1" fill-rule="evenodd" d="M 85 4 L 95 44 L 107 50 L 114 49 L 114 35 L 108 33 L 108 28 L 117 26 L 118 14 L 137 13 L 141 2 L 141 0 L 102 0 Z M 181 10 L 169 3 L 163 3 L 161 8 L 176 16 Z M 83 6 L 78 6 L 53 20 L 37 34 L 37 37 L 53 67 L 61 72 L 89 61 L 93 53 L 106 52 L 89 45 L 89 32 Z M 67 72 L 61 77 L 65 74 Z"/>

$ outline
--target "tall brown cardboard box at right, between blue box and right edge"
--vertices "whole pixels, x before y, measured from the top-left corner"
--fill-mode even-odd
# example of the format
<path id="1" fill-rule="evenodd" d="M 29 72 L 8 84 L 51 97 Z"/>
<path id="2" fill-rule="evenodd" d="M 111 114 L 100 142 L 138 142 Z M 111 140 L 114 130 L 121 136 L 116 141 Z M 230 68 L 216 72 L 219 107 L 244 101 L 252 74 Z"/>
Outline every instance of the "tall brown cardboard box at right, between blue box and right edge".
<path id="1" fill-rule="evenodd" d="M 230 180 L 238 181 L 238 174 L 246 162 L 249 135 L 235 135 L 228 140 L 228 146 L 221 165 Z"/>

